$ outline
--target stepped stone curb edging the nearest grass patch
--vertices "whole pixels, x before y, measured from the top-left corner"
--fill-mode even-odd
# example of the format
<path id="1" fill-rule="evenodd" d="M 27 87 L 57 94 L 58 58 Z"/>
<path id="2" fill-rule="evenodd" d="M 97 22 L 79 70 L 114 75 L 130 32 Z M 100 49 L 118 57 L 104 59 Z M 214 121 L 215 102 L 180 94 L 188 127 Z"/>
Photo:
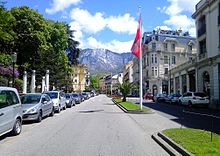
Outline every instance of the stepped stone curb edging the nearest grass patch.
<path id="1" fill-rule="evenodd" d="M 194 156 L 192 153 L 188 152 L 182 146 L 168 138 L 162 132 L 155 133 L 151 136 L 167 153 L 171 156 Z"/>

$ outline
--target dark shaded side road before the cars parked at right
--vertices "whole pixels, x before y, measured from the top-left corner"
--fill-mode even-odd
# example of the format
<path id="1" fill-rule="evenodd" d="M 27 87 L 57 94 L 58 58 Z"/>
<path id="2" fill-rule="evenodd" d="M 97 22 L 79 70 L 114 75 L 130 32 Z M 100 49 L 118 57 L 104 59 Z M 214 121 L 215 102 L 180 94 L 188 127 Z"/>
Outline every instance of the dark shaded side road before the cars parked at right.
<path id="1" fill-rule="evenodd" d="M 185 127 L 204 129 L 220 134 L 220 112 L 202 107 L 189 108 L 167 103 L 147 102 L 144 106 Z M 185 112 L 184 112 L 185 111 Z M 213 118 L 211 115 L 217 117 Z"/>

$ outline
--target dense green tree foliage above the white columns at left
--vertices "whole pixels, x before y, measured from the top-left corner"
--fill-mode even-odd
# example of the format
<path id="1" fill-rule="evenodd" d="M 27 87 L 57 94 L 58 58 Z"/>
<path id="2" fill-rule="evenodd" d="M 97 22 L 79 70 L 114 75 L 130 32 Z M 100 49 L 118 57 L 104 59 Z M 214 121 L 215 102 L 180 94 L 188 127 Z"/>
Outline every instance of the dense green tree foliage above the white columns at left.
<path id="1" fill-rule="evenodd" d="M 29 75 L 36 70 L 39 85 L 49 70 L 50 82 L 63 87 L 71 74 L 66 49 L 71 47 L 76 52 L 75 59 L 79 57 L 79 42 L 73 40 L 74 31 L 69 28 L 66 23 L 46 20 L 27 6 L 7 10 L 0 2 L 0 65 L 9 66 L 11 52 L 17 52 L 16 67 L 21 79 L 25 70 Z"/>

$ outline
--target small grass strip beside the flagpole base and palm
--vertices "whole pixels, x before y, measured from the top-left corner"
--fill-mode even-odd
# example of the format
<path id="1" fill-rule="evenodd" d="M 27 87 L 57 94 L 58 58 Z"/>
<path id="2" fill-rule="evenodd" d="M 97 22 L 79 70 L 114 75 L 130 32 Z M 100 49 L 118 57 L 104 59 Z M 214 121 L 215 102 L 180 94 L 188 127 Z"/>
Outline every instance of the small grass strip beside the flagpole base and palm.
<path id="1" fill-rule="evenodd" d="M 120 103 L 122 106 L 124 106 L 127 110 L 141 110 L 140 105 L 137 105 L 133 102 L 126 101 L 122 102 L 122 99 L 114 99 L 117 103 Z M 150 108 L 143 107 L 142 111 L 150 111 Z"/>

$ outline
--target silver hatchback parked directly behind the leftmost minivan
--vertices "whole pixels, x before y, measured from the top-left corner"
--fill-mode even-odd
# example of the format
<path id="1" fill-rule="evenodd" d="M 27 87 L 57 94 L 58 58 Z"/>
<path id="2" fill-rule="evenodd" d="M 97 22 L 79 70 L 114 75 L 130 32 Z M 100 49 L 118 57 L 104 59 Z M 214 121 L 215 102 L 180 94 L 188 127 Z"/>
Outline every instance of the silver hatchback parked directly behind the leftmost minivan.
<path id="1" fill-rule="evenodd" d="M 54 115 L 53 101 L 47 94 L 30 93 L 21 96 L 23 120 L 41 122 L 45 116 Z"/>

